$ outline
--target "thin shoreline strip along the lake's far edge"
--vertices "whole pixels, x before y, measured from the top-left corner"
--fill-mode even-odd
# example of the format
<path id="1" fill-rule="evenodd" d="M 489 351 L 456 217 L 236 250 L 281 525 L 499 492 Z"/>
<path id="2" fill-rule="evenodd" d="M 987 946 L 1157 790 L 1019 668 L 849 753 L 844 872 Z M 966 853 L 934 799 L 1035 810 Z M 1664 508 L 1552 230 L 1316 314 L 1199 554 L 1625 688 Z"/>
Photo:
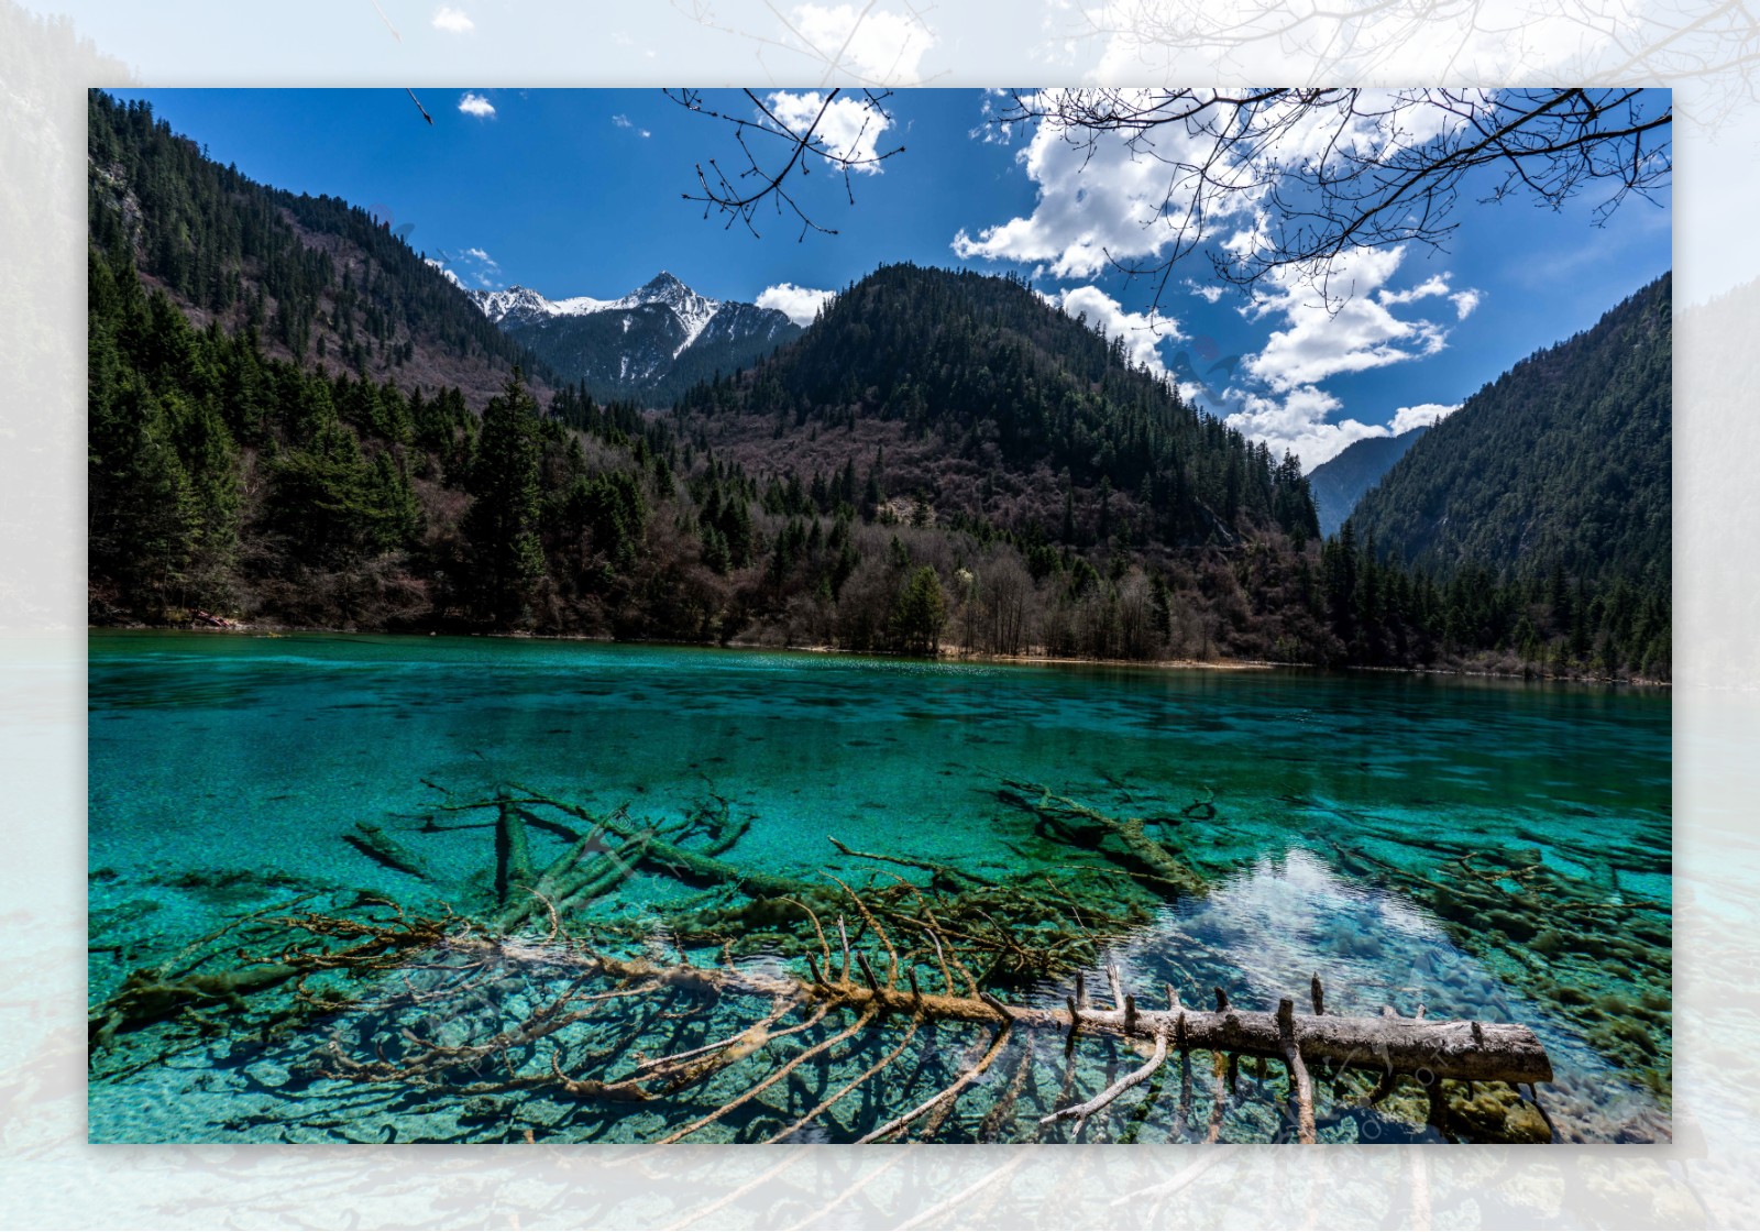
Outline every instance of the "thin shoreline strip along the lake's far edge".
<path id="1" fill-rule="evenodd" d="M 1463 679 L 1500 679 L 1524 685 L 1600 685 L 1624 688 L 1674 688 L 1667 679 L 1617 679 L 1612 676 L 1551 676 L 1540 672 L 1496 672 L 1470 667 L 1392 667 L 1382 664 L 1292 664 L 1271 658 L 1082 658 L 1077 655 L 986 655 L 961 651 L 936 651 L 935 655 L 899 655 L 884 649 L 843 649 L 841 646 L 766 646 L 764 642 L 692 642 L 664 637 L 612 637 L 609 634 L 533 634 L 514 632 L 468 632 L 442 634 L 426 632 L 387 632 L 368 628 L 333 628 L 324 625 L 248 625 L 239 623 L 227 628 L 190 627 L 190 625 L 86 625 L 86 630 L 148 630 L 172 634 L 215 634 L 215 635 L 253 635 L 282 637 L 285 634 L 345 634 L 361 637 L 500 637 L 507 641 L 544 641 L 544 642 L 602 642 L 607 646 L 695 646 L 702 649 L 737 649 L 737 651 L 781 651 L 790 655 L 852 655 L 862 658 L 917 660 L 935 664 L 987 664 L 998 667 L 1135 667 L 1153 671 L 1209 671 L 1209 672 L 1271 672 L 1271 671 L 1308 671 L 1308 672 L 1389 672 L 1397 676 L 1452 676 Z"/>

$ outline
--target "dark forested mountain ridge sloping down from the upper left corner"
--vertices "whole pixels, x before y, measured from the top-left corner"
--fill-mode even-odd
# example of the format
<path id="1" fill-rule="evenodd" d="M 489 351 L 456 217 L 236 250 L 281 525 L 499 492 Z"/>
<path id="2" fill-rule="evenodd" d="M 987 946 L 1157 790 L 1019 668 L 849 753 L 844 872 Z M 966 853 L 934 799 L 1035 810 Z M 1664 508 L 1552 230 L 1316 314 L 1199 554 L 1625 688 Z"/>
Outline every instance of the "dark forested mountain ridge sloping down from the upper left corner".
<path id="1" fill-rule="evenodd" d="M 90 93 L 92 245 L 128 260 L 197 324 L 255 331 L 331 373 L 488 398 L 514 364 L 547 370 L 359 206 L 259 185 L 141 102 Z"/>

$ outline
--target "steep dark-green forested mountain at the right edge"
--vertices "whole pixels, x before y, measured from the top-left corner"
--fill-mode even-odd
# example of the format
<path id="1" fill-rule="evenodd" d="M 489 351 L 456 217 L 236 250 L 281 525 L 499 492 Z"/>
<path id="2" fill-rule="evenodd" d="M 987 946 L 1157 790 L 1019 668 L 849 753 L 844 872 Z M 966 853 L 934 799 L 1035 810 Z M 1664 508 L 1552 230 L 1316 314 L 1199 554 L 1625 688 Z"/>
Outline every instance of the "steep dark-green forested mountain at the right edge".
<path id="1" fill-rule="evenodd" d="M 1672 278 L 1515 364 L 1357 507 L 1378 553 L 1452 574 L 1670 581 Z"/>

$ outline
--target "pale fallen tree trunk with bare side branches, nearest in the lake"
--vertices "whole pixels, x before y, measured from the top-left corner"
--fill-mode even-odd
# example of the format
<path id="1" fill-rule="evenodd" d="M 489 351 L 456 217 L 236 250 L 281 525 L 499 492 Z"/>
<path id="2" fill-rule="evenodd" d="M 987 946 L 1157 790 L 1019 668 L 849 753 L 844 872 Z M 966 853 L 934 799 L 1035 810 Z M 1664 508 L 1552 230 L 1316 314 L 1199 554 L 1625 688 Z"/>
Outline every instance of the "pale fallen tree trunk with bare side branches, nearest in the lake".
<path id="1" fill-rule="evenodd" d="M 334 933 L 348 940 L 359 940 L 359 924 L 354 922 L 336 928 L 334 920 L 320 915 L 297 917 L 287 922 L 299 924 L 315 935 Z M 554 915 L 553 926 L 560 928 Z M 407 938 L 410 931 L 419 931 L 419 928 L 412 929 L 408 924 L 401 924 L 398 938 Z M 1315 1084 L 1308 1074 L 1308 1065 L 1313 1063 L 1324 1065 L 1334 1077 L 1341 1070 L 1378 1074 L 1380 1082 L 1369 1096 L 1371 1104 L 1385 1098 L 1401 1077 L 1415 1079 L 1431 1100 L 1429 1121 L 1438 1126 L 1447 1119 L 1447 1112 L 1440 1104 L 1441 1081 L 1445 1079 L 1456 1082 L 1507 1082 L 1510 1086 L 1552 1081 L 1552 1063 L 1547 1058 L 1545 1047 L 1531 1030 L 1517 1023 L 1408 1019 L 1390 1010 L 1383 1010 L 1373 1017 L 1346 1017 L 1324 1012 L 1295 1014 L 1294 1003 L 1287 998 L 1276 1010 L 1241 1010 L 1230 1005 L 1220 989 L 1216 991 L 1218 1008 L 1214 1010 L 1186 1008 L 1179 1005 L 1177 996 L 1169 998 L 1172 1001 L 1169 1008 L 1149 1010 L 1140 1008 L 1135 996 L 1125 991 L 1123 979 L 1116 972 L 1111 973 L 1114 987 L 1112 1008 L 1079 1003 L 1077 996 L 1070 996 L 1063 1008 L 1019 1007 L 1007 1005 L 984 991 L 975 996 L 961 996 L 952 991 L 924 993 L 915 970 L 905 968 L 899 972 L 896 964 L 887 963 L 887 973 L 882 977 L 876 973 L 880 959 L 868 961 L 861 952 L 854 954 L 854 964 L 843 964 L 840 973 L 832 977 L 831 972 L 834 966 L 829 943 L 822 950 L 825 957 L 824 966 L 810 957 L 810 975 L 801 979 L 794 973 L 769 970 L 693 966 L 690 963 L 660 964 L 641 957 L 625 959 L 572 945 L 556 945 L 553 940 L 533 943 L 486 936 L 473 931 L 445 933 L 442 929 L 431 931 L 429 936 L 436 949 L 447 950 L 466 964 L 512 963 L 526 968 L 551 968 L 560 979 L 568 980 L 568 987 L 576 991 L 595 979 L 609 982 L 614 989 L 621 989 L 593 996 L 581 994 L 583 1003 L 614 996 L 646 996 L 662 989 L 690 989 L 716 1000 L 729 994 L 744 994 L 762 998 L 771 1005 L 771 1012 L 744 1031 L 727 1035 L 716 1044 L 692 1049 L 676 1058 L 642 1061 L 634 1074 L 623 1077 L 572 1077 L 560 1065 L 553 1063 L 549 1072 L 517 1077 L 503 1084 L 505 1089 L 553 1088 L 576 1098 L 607 1102 L 653 1100 L 674 1095 L 685 1086 L 695 1086 L 732 1063 L 757 1054 L 771 1040 L 803 1031 L 825 1021 L 834 1012 L 854 1016 L 854 1023 L 834 1035 L 836 1042 L 850 1038 L 864 1028 L 878 1030 L 889 1023 L 905 1024 L 905 1030 L 912 1035 L 922 1023 L 996 1026 L 1000 1030 L 986 1051 L 984 1067 L 994 1060 L 1010 1031 L 1040 1030 L 1067 1033 L 1072 1047 L 1084 1033 L 1146 1040 L 1151 1045 L 1153 1054 L 1149 1063 L 1114 1082 L 1095 1098 L 1054 1109 L 1049 1116 L 1042 1118 L 1045 1125 L 1063 1119 L 1086 1119 L 1132 1086 L 1149 1081 L 1170 1056 L 1186 1058 L 1192 1051 L 1211 1052 L 1216 1058 L 1214 1068 L 1218 1075 L 1225 1070 L 1230 1075 L 1230 1088 L 1234 1086 L 1232 1075 L 1237 1072 L 1243 1056 L 1260 1061 L 1281 1061 L 1290 1075 L 1290 1100 L 1297 1109 L 1295 1123 L 1302 1142 L 1315 1140 Z M 880 940 L 885 940 L 884 933 L 880 933 Z M 299 952 L 289 952 L 287 961 L 299 964 Z M 861 979 L 850 979 L 852 966 L 861 972 Z M 1316 975 L 1311 986 L 1315 1008 L 1320 1008 L 1324 1000 L 1318 984 Z M 570 1001 L 567 998 L 558 1000 L 539 1014 L 533 1014 L 528 1021 L 498 1035 L 489 1042 L 489 1049 L 493 1051 L 512 1040 L 521 1045 L 532 1044 L 583 1017 L 583 1012 L 568 1012 L 568 1007 Z M 806 1016 L 806 1021 L 796 1028 L 773 1030 L 790 1012 Z M 829 1044 L 820 1042 L 811 1045 L 811 1056 L 822 1054 L 829 1049 Z M 433 1070 L 458 1065 L 466 1051 L 468 1058 L 465 1060 L 475 1061 L 484 1056 L 484 1045 L 436 1049 L 426 1058 L 419 1058 L 419 1063 L 407 1061 L 398 1065 L 387 1061 L 350 1061 L 333 1051 L 331 1063 L 338 1077 L 410 1081 L 431 1077 L 429 1072 L 422 1070 L 422 1065 Z M 774 1084 L 785 1074 L 797 1068 L 803 1060 L 806 1060 L 806 1054 L 783 1061 L 780 1068 L 771 1070 L 757 1086 L 741 1095 L 736 1104 Z M 862 1081 L 868 1081 L 884 1068 L 884 1065 L 873 1067 L 869 1072 L 864 1072 Z M 869 1137 L 885 1137 L 915 1116 L 950 1104 L 980 1072 L 982 1067 L 961 1074 L 938 1096 L 924 1102 L 915 1112 L 898 1118 L 889 1126 L 884 1126 L 884 1132 L 875 1132 Z M 472 1089 L 491 1089 L 491 1086 L 477 1084 Z M 1220 1079 L 1218 1091 L 1221 1091 Z M 840 1091 L 838 1098 L 847 1093 Z M 1213 1109 L 1213 1133 L 1220 1128 L 1220 1118 L 1216 1116 L 1220 1102 L 1218 1096 Z M 725 1112 L 732 1105 L 723 1105 L 720 1111 Z M 699 1118 L 693 1126 L 706 1126 L 715 1119 L 718 1119 L 718 1112 Z M 693 1130 L 676 1132 L 669 1140 L 685 1137 L 690 1132 Z"/>

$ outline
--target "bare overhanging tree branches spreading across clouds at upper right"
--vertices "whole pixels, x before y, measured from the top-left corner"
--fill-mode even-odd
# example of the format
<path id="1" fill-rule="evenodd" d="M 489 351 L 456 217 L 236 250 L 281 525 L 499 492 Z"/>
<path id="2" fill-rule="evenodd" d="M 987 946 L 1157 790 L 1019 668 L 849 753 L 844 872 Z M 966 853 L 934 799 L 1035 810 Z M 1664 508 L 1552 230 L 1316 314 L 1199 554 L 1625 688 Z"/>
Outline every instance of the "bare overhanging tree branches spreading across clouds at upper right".
<path id="1" fill-rule="evenodd" d="M 993 125 L 1037 125 L 1084 150 L 1121 143 L 1167 167 L 1165 197 L 1107 260 L 1165 289 L 1199 250 L 1239 287 L 1318 287 L 1359 248 L 1454 232 L 1464 188 L 1561 209 L 1598 188 L 1605 222 L 1672 174 L 1667 97 L 1640 90 L 1045 90 L 1014 92 Z M 1489 178 L 1489 181 L 1487 181 Z M 1156 299 L 1160 299 L 1160 289 Z"/>

